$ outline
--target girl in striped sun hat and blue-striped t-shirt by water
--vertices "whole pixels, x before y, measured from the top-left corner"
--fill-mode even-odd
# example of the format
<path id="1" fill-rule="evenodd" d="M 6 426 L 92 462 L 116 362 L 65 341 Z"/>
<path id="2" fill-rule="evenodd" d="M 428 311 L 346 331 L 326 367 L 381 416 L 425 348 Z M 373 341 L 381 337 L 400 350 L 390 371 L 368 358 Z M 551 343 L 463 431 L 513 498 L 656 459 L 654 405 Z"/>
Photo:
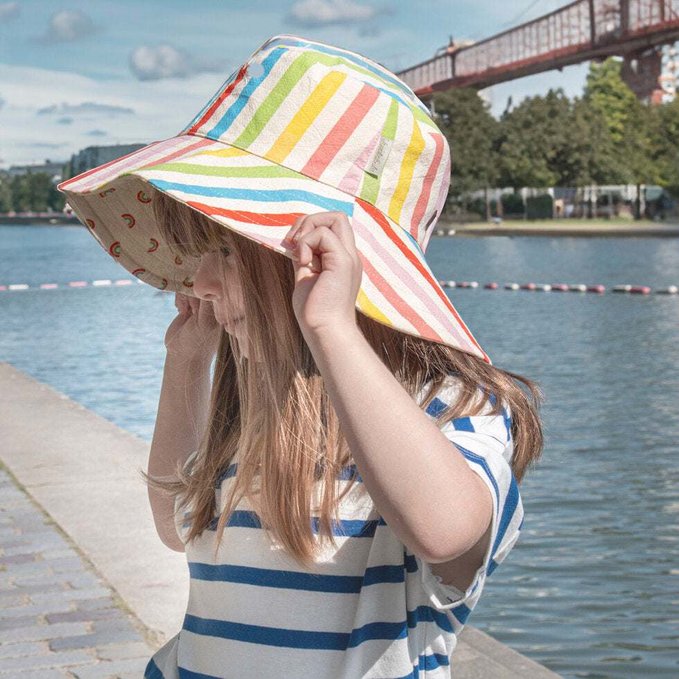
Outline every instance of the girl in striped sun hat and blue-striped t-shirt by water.
<path id="1" fill-rule="evenodd" d="M 425 112 L 282 36 L 181 135 L 60 187 L 177 291 L 148 483 L 191 593 L 148 678 L 450 676 L 542 439 L 423 259 L 450 176 Z"/>

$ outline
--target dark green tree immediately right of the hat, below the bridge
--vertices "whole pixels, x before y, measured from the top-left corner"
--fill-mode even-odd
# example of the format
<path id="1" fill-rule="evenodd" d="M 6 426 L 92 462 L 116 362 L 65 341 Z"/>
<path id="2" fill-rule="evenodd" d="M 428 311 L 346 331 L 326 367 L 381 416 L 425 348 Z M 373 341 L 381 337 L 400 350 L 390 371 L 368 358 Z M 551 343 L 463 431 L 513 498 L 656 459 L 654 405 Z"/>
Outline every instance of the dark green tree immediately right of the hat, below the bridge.
<path id="1" fill-rule="evenodd" d="M 450 145 L 450 191 L 464 197 L 469 191 L 496 186 L 495 141 L 498 123 L 489 105 L 471 88 L 454 89 L 434 97 L 434 116 Z"/>

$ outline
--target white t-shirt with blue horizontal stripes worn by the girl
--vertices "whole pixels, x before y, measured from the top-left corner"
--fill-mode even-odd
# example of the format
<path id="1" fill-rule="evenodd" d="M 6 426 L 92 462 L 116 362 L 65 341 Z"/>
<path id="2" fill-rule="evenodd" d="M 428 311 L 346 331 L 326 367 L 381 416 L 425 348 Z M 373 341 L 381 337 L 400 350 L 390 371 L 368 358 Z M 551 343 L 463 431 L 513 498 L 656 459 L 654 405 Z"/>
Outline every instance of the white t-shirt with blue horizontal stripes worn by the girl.
<path id="1" fill-rule="evenodd" d="M 451 383 L 441 390 L 427 414 L 441 412 L 455 389 Z M 187 545 L 191 587 L 184 625 L 154 655 L 145 677 L 450 677 L 457 635 L 522 522 L 509 468 L 510 422 L 505 410 L 441 429 L 493 497 L 490 546 L 466 592 L 441 583 L 430 564 L 404 547 L 360 482 L 340 504 L 337 547 L 328 548 L 312 572 L 270 542 L 244 500 L 229 519 L 216 560 L 214 530 Z M 237 473 L 236 460 L 216 488 L 218 507 Z"/>

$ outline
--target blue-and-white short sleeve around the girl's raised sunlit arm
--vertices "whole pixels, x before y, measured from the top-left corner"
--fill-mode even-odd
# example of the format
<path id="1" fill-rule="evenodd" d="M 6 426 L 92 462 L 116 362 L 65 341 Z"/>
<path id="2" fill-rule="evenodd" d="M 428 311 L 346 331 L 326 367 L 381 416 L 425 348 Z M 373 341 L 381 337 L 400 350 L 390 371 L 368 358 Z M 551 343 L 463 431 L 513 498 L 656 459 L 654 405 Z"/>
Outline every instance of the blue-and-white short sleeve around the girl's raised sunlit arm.
<path id="1" fill-rule="evenodd" d="M 440 391 L 427 407 L 427 414 L 436 418 L 455 400 L 455 391 L 455 387 Z M 439 610 L 452 609 L 450 612 L 464 624 L 481 595 L 486 578 L 502 563 L 516 542 L 523 521 L 523 507 L 509 465 L 513 443 L 508 408 L 503 408 L 499 414 L 482 413 L 449 421 L 441 427 L 441 432 L 446 434 L 464 455 L 470 468 L 483 479 L 493 499 L 488 550 L 482 566 L 465 592 L 441 583 L 432 573 L 429 563 L 418 564 L 421 565 L 423 588 L 432 605 Z"/>

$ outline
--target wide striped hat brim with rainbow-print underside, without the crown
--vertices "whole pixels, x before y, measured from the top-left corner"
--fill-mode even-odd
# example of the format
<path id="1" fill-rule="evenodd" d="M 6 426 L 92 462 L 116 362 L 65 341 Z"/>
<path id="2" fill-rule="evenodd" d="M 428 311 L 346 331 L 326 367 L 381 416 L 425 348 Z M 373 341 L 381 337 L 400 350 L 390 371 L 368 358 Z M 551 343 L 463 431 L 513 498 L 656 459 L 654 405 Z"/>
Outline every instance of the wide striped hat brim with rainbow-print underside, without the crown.
<path id="1" fill-rule="evenodd" d="M 141 281 L 193 294 L 197 261 L 165 242 L 151 185 L 224 227 L 292 257 L 301 215 L 349 216 L 363 262 L 357 308 L 409 335 L 488 362 L 436 281 L 416 240 L 371 204 L 222 141 L 182 134 L 79 175 L 59 188 L 98 243 Z"/>

